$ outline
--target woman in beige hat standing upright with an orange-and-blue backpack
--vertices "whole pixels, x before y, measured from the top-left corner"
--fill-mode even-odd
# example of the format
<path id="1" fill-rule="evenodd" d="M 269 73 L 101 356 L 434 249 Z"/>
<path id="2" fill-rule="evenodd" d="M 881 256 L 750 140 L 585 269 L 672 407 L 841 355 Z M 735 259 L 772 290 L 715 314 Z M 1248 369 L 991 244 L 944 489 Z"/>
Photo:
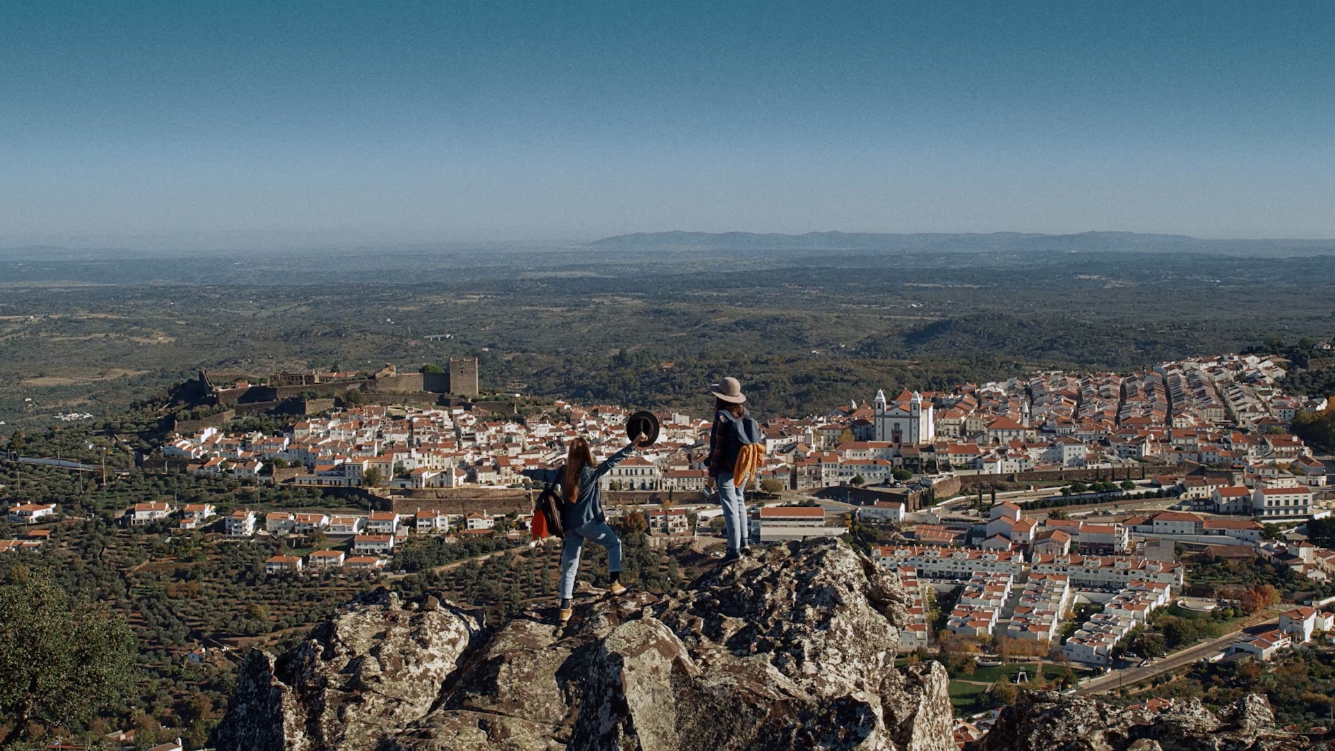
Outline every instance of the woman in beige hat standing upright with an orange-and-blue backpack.
<path id="1" fill-rule="evenodd" d="M 728 531 L 728 555 L 722 564 L 741 559 L 750 549 L 746 544 L 746 500 L 742 488 L 733 480 L 737 454 L 744 445 L 758 440 L 758 428 L 742 406 L 746 394 L 737 378 L 724 378 L 709 388 L 714 394 L 714 425 L 709 430 L 709 477 L 718 489 L 718 502 L 724 506 L 724 525 Z"/>

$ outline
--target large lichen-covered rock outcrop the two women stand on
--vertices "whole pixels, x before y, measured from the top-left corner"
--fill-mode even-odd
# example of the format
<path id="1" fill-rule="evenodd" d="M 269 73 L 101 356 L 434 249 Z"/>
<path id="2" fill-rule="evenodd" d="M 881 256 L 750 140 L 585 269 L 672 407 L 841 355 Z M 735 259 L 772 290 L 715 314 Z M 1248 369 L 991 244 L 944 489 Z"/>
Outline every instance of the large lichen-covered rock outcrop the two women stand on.
<path id="1" fill-rule="evenodd" d="M 834 540 L 668 596 L 586 592 L 565 628 L 489 631 L 439 596 L 376 591 L 282 657 L 247 656 L 218 747 L 953 751 L 944 669 L 894 668 L 906 601 Z"/>

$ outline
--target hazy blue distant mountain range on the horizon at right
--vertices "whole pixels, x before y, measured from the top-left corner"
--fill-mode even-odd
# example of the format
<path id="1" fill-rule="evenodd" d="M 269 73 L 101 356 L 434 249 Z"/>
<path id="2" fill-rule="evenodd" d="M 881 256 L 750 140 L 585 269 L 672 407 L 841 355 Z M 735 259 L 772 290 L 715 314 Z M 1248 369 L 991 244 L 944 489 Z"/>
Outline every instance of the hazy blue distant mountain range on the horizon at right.
<path id="1" fill-rule="evenodd" d="M 594 249 L 627 250 L 842 250 L 925 253 L 1203 253 L 1224 255 L 1324 255 L 1335 254 L 1335 239 L 1200 239 L 1187 235 L 1139 233 L 806 233 L 804 235 L 757 233 L 635 233 L 587 243 Z"/>

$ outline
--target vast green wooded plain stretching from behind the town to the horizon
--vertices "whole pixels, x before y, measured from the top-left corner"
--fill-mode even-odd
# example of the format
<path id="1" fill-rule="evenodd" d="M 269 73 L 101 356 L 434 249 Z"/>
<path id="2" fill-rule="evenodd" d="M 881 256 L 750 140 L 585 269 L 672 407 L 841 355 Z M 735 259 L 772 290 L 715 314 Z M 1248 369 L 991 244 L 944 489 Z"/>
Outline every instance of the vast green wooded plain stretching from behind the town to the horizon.
<path id="1" fill-rule="evenodd" d="M 199 369 L 256 378 L 473 355 L 494 392 L 697 409 L 704 384 L 736 374 L 758 414 L 800 416 L 877 388 L 1124 370 L 1335 334 L 1335 273 L 1303 255 L 585 247 L 16 261 L 0 271 L 0 421 L 27 430 L 69 412 L 119 417 Z"/>

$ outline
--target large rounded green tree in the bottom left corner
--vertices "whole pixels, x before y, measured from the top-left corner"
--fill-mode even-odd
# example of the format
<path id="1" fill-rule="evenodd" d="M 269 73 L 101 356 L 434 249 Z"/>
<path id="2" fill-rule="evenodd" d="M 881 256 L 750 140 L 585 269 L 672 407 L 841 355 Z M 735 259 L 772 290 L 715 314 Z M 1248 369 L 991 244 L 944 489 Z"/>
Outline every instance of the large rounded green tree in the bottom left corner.
<path id="1" fill-rule="evenodd" d="M 135 637 L 45 576 L 0 587 L 0 712 L 12 746 L 29 723 L 84 723 L 134 684 Z"/>

